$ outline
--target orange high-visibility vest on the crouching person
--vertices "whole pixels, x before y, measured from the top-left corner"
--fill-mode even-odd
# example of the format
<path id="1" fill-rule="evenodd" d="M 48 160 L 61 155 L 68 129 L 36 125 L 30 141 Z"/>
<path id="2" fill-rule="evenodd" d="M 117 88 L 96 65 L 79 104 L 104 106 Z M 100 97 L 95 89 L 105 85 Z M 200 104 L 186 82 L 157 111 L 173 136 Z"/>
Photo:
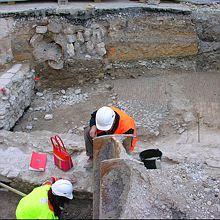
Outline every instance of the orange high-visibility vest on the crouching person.
<path id="1" fill-rule="evenodd" d="M 129 129 L 134 129 L 134 136 L 135 137 L 133 138 L 132 143 L 131 143 L 131 147 L 130 147 L 130 151 L 133 151 L 134 147 L 135 147 L 135 144 L 138 141 L 138 139 L 136 138 L 137 129 L 136 129 L 134 119 L 132 117 L 130 117 L 129 115 L 127 115 L 125 112 L 121 111 L 120 109 L 118 109 L 116 107 L 112 106 L 111 109 L 113 109 L 115 112 L 117 112 L 118 115 L 120 116 L 118 128 L 116 129 L 114 134 L 124 134 Z"/>

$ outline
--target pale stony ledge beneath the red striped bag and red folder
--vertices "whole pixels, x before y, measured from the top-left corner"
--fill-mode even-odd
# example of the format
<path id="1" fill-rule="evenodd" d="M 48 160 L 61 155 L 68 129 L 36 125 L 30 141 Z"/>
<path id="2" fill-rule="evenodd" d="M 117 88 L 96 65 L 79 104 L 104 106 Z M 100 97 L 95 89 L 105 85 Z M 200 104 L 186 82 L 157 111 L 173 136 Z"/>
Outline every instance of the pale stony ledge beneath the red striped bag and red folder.
<path id="1" fill-rule="evenodd" d="M 52 144 L 50 137 L 55 135 L 49 131 L 35 131 L 31 133 L 0 131 L 0 175 L 11 179 L 15 188 L 25 190 L 25 185 L 40 185 L 51 176 L 73 180 L 74 190 L 80 192 L 92 192 L 92 172 L 83 166 L 87 162 L 84 140 L 74 134 L 58 134 L 72 156 L 74 167 L 63 172 L 53 162 Z M 32 151 L 47 153 L 47 164 L 45 172 L 34 172 L 29 170 L 29 162 Z M 16 164 L 16 165 L 15 165 Z M 17 184 L 17 185 L 16 185 Z"/>

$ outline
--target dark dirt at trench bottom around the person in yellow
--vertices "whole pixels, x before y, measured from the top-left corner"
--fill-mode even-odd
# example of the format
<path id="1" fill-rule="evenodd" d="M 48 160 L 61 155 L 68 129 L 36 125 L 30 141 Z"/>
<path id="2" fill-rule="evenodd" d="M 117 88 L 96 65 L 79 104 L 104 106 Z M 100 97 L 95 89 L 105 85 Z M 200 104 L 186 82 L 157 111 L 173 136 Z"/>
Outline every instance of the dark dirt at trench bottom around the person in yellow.
<path id="1" fill-rule="evenodd" d="M 0 191 L 0 198 L 0 219 L 15 219 L 21 197 L 13 192 Z M 92 200 L 73 199 L 65 207 L 61 219 L 92 219 Z"/>

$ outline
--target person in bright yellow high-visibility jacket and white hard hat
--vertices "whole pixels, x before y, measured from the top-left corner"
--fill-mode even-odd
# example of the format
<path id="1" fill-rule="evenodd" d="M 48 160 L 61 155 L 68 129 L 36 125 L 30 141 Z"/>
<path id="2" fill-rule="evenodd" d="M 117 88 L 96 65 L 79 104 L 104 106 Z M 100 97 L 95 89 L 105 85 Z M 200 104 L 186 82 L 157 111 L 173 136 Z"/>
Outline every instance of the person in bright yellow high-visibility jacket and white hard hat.
<path id="1" fill-rule="evenodd" d="M 73 199 L 69 180 L 51 178 L 23 197 L 16 209 L 17 219 L 59 219 L 65 203 Z"/>

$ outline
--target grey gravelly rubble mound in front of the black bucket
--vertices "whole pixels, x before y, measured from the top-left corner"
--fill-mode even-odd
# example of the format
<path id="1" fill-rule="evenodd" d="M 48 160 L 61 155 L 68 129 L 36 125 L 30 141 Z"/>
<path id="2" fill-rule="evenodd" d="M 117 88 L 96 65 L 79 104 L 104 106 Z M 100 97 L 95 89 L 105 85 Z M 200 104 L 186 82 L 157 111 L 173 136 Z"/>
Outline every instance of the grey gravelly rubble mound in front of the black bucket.
<path id="1" fill-rule="evenodd" d="M 219 218 L 214 192 L 219 180 L 207 178 L 201 163 L 147 170 L 135 160 L 112 159 L 103 166 L 101 218 Z"/>

